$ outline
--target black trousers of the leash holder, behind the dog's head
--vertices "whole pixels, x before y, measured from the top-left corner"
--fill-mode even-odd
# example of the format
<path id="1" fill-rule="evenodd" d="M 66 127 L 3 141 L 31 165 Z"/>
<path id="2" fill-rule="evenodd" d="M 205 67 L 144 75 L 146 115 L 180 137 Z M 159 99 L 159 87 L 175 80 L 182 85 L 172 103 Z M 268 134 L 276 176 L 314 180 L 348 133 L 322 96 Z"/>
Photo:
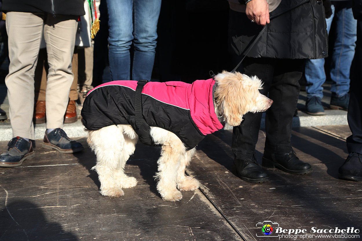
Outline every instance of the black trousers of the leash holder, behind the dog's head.
<path id="1" fill-rule="evenodd" d="M 291 151 L 291 128 L 299 96 L 299 79 L 304 59 L 245 58 L 243 72 L 263 82 L 262 94 L 269 94 L 273 105 L 266 111 L 264 153 Z M 239 67 L 240 68 L 240 67 Z M 252 157 L 258 141 L 262 113 L 247 113 L 240 126 L 233 128 L 232 151 L 237 159 Z"/>

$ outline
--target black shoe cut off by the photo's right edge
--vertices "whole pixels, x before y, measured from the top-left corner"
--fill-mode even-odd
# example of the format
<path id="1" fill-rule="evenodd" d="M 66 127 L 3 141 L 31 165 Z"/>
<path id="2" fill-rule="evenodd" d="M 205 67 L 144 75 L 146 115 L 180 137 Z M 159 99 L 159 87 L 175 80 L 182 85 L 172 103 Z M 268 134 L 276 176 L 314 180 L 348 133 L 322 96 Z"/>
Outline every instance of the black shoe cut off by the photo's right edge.
<path id="1" fill-rule="evenodd" d="M 338 169 L 338 177 L 349 181 L 362 181 L 362 154 L 350 153 Z"/>

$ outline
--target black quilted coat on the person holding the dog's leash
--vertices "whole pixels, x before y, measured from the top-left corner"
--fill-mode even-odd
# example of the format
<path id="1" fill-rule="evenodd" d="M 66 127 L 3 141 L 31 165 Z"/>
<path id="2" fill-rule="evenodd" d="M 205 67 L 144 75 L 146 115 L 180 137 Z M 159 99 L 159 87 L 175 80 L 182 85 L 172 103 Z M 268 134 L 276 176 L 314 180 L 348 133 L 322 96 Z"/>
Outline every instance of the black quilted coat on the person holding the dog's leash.
<path id="1" fill-rule="evenodd" d="M 322 0 L 309 0 L 273 18 L 303 0 L 282 0 L 270 12 L 270 24 L 247 54 L 252 58 L 320 59 L 328 54 L 328 35 Z M 230 51 L 242 55 L 263 26 L 251 22 L 245 13 L 230 10 Z"/>

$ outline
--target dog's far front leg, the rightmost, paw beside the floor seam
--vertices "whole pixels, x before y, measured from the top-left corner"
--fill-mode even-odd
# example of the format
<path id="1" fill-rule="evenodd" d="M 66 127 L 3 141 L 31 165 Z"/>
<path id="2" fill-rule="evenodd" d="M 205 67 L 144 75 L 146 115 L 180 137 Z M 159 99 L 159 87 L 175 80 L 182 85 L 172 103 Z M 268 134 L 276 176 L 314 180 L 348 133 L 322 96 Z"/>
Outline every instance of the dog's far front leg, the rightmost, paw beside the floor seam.
<path id="1" fill-rule="evenodd" d="M 197 179 L 185 175 L 185 168 L 190 164 L 191 158 L 195 154 L 195 150 L 196 148 L 187 151 L 181 158 L 181 164 L 177 175 L 177 188 L 180 191 L 193 191 L 198 189 L 200 186 L 200 183 Z"/>

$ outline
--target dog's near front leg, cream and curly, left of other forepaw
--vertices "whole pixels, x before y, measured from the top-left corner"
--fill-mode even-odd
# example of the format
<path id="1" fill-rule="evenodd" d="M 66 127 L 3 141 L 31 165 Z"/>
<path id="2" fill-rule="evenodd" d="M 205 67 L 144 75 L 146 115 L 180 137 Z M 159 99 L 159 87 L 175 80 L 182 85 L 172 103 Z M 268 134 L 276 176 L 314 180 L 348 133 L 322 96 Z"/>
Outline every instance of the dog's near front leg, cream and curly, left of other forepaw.
<path id="1" fill-rule="evenodd" d="M 157 190 L 165 200 L 181 200 L 182 194 L 177 190 L 177 175 L 186 148 L 175 134 L 167 130 L 151 128 L 151 135 L 156 143 L 162 144 L 161 157 L 157 161 L 158 173 L 155 176 L 158 179 Z"/>

